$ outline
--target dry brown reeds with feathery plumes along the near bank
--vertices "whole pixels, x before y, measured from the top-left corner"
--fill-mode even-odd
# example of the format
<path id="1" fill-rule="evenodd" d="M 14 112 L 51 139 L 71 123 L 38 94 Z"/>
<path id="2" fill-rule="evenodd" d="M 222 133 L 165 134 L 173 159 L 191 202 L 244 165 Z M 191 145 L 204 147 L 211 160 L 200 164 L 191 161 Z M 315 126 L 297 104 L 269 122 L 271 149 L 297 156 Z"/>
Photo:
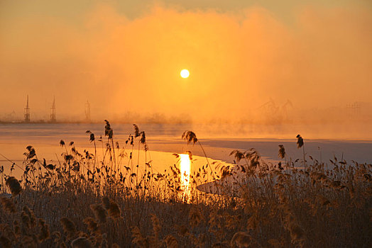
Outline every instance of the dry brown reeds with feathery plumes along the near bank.
<path id="1" fill-rule="evenodd" d="M 177 166 L 153 174 L 133 150 L 148 150 L 145 132 L 134 125 L 124 147 L 114 142 L 108 121 L 99 161 L 61 140 L 57 164 L 27 147 L 18 181 L 1 170 L 1 247 L 370 247 L 372 166 L 330 164 L 307 156 L 266 164 L 256 150 L 235 150 L 236 166 L 207 161 L 190 177 L 185 196 Z M 199 142 L 185 132 L 187 142 Z M 199 145 L 202 145 L 199 142 Z M 139 154 L 139 153 L 138 153 Z M 191 156 L 191 154 L 190 154 Z M 299 165 L 304 169 L 298 169 Z M 16 164 L 14 164 L 16 166 Z M 13 165 L 13 166 L 14 166 Z M 218 170 L 218 171 L 217 171 Z M 142 171 L 142 172 L 141 172 Z M 198 191 L 206 179 L 220 194 Z M 226 178 L 233 184 L 224 186 Z M 3 181 L 5 180 L 5 181 Z"/>

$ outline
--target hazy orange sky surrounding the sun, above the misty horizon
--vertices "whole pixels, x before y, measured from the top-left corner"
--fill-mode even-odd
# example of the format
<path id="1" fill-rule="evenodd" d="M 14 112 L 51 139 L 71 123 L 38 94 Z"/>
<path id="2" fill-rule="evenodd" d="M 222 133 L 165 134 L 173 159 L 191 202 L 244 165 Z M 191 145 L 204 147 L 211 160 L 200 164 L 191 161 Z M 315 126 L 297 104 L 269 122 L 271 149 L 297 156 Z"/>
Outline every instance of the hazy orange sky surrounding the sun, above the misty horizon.
<path id="1" fill-rule="evenodd" d="M 371 103 L 371 1 L 0 0 L 0 113 L 237 118 Z M 190 69 L 181 79 L 180 69 Z"/>

